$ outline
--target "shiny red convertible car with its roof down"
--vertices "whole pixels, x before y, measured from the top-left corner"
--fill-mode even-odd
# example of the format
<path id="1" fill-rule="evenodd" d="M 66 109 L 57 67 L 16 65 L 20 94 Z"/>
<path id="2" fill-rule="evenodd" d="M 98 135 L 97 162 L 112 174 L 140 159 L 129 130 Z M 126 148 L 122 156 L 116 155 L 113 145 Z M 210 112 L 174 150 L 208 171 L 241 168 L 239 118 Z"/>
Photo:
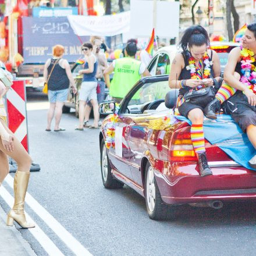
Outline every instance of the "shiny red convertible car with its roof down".
<path id="1" fill-rule="evenodd" d="M 166 126 L 175 101 L 168 95 L 176 95 L 175 90 L 169 88 L 166 75 L 145 77 L 118 108 L 114 102 L 100 105 L 101 114 L 118 111 L 104 119 L 99 133 L 104 186 L 117 189 L 126 184 L 136 190 L 145 197 L 151 219 L 173 219 L 182 204 L 218 209 L 226 201 L 255 199 L 255 171 L 207 140 L 213 175 L 200 176 L 189 124 L 177 121 Z M 165 120 L 166 116 L 170 118 Z M 109 137 L 111 127 L 115 134 Z"/>

